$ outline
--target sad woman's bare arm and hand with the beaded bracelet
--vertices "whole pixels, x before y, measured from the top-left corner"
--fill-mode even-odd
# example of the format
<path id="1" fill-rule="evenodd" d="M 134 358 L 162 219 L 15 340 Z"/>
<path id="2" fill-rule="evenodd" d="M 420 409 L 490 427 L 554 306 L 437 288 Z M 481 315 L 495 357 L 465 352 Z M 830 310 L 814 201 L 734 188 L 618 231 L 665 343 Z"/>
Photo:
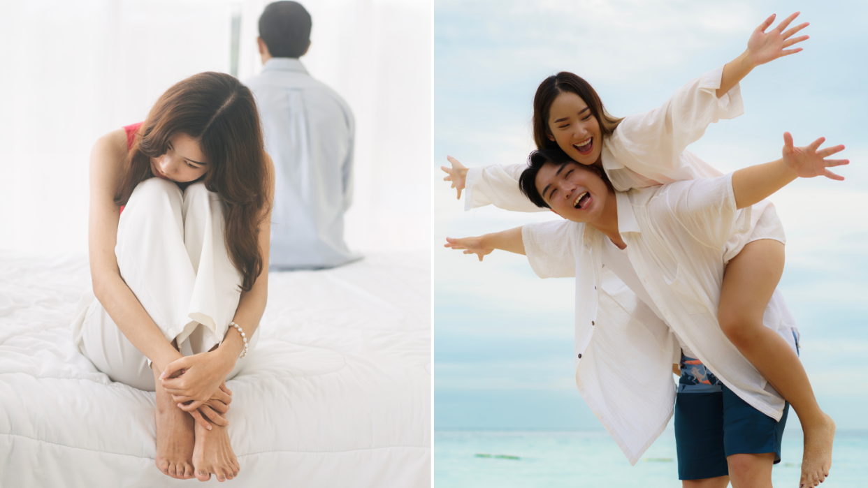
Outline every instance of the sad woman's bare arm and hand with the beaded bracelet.
<path id="1" fill-rule="evenodd" d="M 267 187 L 269 194 L 259 226 L 262 272 L 253 282 L 250 291 L 241 292 L 238 308 L 235 309 L 233 316 L 233 322 L 244 329 L 244 335 L 248 341 L 251 340 L 253 332 L 259 327 L 268 298 L 268 253 L 271 243 L 274 166 L 267 154 L 266 166 L 268 168 Z M 220 347 L 207 353 L 180 357 L 166 365 L 160 376 L 162 386 L 169 394 L 172 394 L 175 401 L 179 402 L 178 407 L 187 412 L 193 412 L 201 407 L 226 380 L 227 375 L 235 368 L 235 361 L 238 361 L 243 350 L 244 341 L 240 333 L 237 329 L 230 327 L 223 342 L 220 343 Z M 183 370 L 183 374 L 176 375 L 181 370 Z M 190 403 L 184 405 L 187 402 Z"/>

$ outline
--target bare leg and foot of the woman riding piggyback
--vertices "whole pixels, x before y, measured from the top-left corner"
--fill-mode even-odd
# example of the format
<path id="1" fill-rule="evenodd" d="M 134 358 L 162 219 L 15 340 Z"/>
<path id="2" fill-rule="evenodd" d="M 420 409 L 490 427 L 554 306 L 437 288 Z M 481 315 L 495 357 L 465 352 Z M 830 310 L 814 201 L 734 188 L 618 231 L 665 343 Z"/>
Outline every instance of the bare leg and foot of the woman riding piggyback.
<path id="1" fill-rule="evenodd" d="M 816 486 L 832 467 L 835 422 L 820 410 L 799 356 L 762 322 L 783 271 L 784 244 L 771 239 L 747 244 L 727 265 L 718 319 L 733 345 L 799 415 L 805 435 L 799 484 Z"/>

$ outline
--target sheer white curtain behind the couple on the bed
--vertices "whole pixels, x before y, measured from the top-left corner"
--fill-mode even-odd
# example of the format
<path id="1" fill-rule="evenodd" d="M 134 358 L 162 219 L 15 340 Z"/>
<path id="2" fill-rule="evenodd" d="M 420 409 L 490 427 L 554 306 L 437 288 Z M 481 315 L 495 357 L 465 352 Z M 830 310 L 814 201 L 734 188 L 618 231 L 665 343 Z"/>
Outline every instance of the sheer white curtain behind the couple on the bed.
<path id="1" fill-rule="evenodd" d="M 240 12 L 239 77 L 259 72 L 268 2 L 0 0 L 0 250 L 87 249 L 89 152 L 143 120 L 175 81 L 229 72 Z M 302 2 L 313 21 L 308 71 L 352 107 L 358 251 L 430 242 L 431 2 Z"/>

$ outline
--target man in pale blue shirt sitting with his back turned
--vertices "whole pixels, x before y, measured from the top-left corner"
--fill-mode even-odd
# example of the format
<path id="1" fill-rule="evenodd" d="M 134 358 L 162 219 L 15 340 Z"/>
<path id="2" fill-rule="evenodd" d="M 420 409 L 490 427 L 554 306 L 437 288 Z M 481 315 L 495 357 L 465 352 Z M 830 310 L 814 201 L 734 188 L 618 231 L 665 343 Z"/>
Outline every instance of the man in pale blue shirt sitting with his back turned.
<path id="1" fill-rule="evenodd" d="M 311 16 L 300 3 L 270 3 L 260 16 L 260 75 L 247 80 L 274 161 L 270 267 L 331 268 L 359 257 L 344 243 L 352 202 L 355 122 L 346 102 L 307 74 Z"/>

